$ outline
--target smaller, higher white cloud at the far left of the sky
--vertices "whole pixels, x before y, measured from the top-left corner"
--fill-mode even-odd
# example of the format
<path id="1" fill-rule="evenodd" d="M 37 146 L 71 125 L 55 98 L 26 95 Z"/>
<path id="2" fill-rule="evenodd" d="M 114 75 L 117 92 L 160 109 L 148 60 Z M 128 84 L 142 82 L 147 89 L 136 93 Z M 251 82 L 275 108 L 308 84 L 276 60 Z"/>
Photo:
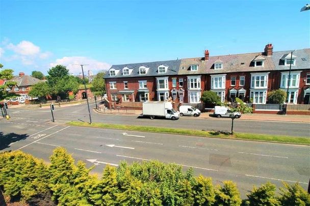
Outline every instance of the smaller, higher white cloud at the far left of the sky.
<path id="1" fill-rule="evenodd" d="M 10 43 L 7 48 L 24 56 L 36 55 L 40 53 L 40 47 L 34 45 L 30 41 L 21 41 L 17 45 Z"/>

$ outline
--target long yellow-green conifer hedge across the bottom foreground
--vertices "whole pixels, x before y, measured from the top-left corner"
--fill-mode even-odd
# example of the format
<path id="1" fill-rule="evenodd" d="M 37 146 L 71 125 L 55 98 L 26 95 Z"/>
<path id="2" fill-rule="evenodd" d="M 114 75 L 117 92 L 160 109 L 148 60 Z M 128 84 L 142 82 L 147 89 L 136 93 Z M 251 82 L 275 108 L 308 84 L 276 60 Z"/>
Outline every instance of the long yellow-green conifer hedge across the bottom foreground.
<path id="1" fill-rule="evenodd" d="M 276 195 L 270 183 L 241 200 L 235 183 L 213 186 L 176 164 L 159 161 L 107 165 L 102 178 L 82 161 L 57 148 L 45 164 L 21 151 L 0 154 L 0 188 L 31 205 L 309 205 L 310 195 L 298 184 L 285 184 Z"/>

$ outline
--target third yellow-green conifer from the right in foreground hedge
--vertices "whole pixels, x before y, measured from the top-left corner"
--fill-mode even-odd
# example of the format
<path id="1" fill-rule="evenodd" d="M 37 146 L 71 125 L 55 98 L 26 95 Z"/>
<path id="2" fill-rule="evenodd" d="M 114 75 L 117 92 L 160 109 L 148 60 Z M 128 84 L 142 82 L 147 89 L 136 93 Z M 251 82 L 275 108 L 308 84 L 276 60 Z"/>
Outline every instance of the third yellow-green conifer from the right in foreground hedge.
<path id="1" fill-rule="evenodd" d="M 242 202 L 237 186 L 232 181 L 224 181 L 223 186 L 218 185 L 215 194 L 216 205 L 238 206 Z"/>

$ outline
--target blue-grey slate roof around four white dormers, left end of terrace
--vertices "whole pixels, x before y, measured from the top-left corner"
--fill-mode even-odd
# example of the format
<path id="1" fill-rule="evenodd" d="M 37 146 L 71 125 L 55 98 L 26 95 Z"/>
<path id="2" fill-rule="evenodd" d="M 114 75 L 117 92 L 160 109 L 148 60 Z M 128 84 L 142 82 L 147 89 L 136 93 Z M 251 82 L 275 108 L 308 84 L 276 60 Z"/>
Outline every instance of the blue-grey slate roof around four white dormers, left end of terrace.
<path id="1" fill-rule="evenodd" d="M 170 75 L 177 75 L 180 60 L 171 60 L 171 61 L 160 61 L 160 62 L 148 62 L 148 63 L 136 63 L 136 64 L 123 64 L 123 65 L 112 65 L 109 71 L 105 75 L 105 79 L 109 78 L 121 78 L 121 77 L 143 77 L 143 76 L 170 76 Z M 158 73 L 158 67 L 160 65 L 168 66 L 166 73 Z M 146 74 L 140 75 L 139 74 L 139 67 L 144 66 L 149 68 Z M 133 69 L 130 75 L 123 75 L 122 69 L 124 67 Z M 110 76 L 111 69 L 119 70 L 119 72 L 115 76 Z"/>

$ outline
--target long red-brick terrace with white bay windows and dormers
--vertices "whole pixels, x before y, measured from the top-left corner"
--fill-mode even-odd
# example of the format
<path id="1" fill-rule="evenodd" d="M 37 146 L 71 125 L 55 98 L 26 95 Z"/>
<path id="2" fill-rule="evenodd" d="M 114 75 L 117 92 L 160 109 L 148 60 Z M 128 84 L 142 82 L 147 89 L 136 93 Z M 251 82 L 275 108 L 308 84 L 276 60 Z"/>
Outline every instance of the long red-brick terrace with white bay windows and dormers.
<path id="1" fill-rule="evenodd" d="M 200 103 L 203 91 L 213 91 L 221 101 L 239 97 L 254 104 L 268 103 L 272 90 L 287 91 L 290 104 L 310 104 L 310 49 L 210 56 L 181 60 L 113 65 L 104 77 L 110 102 L 166 101 Z"/>

